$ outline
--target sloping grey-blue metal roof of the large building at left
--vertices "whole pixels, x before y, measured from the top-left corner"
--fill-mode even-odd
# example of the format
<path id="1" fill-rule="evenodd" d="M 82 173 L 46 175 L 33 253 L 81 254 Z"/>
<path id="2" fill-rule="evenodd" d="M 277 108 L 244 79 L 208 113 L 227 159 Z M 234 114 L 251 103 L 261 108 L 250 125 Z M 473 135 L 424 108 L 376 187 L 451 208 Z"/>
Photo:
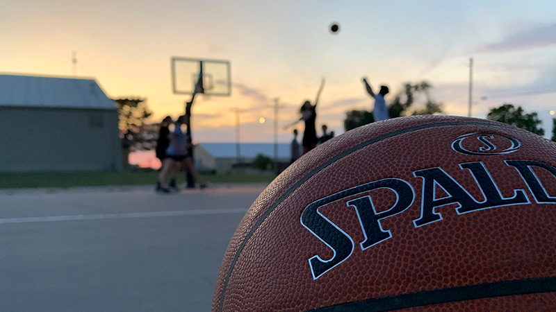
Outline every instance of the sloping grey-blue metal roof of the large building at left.
<path id="1" fill-rule="evenodd" d="M 0 74 L 0 106 L 117 110 L 92 78 Z"/>

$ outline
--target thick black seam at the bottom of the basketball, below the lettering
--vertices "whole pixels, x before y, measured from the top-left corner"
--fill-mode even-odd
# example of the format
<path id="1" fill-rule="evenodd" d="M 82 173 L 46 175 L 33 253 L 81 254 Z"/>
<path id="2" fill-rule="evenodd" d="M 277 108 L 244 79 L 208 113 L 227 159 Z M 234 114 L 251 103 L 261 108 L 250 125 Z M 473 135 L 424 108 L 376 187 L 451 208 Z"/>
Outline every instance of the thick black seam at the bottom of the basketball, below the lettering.
<path id="1" fill-rule="evenodd" d="M 497 281 L 494 283 L 466 285 L 451 288 L 407 293 L 393 297 L 374 298 L 358 302 L 347 302 L 334 306 L 325 306 L 309 312 L 385 312 L 431 306 L 449 302 L 479 300 L 493 297 L 514 295 L 532 295 L 536 293 L 553 293 L 556 291 L 556 277 L 539 279 L 518 279 L 514 281 Z"/>

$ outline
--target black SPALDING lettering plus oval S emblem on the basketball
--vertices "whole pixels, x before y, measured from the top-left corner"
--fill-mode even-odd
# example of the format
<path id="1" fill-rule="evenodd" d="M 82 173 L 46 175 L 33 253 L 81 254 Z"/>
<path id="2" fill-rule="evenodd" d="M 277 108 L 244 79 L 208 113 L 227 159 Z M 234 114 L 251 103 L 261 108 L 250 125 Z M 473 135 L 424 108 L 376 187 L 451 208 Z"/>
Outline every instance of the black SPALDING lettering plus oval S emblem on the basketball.
<path id="1" fill-rule="evenodd" d="M 480 141 L 482 146 L 466 142 L 466 140 L 473 138 Z M 500 145 L 502 145 L 502 148 L 498 149 Z M 520 145 L 516 139 L 506 135 L 478 132 L 461 136 L 452 144 L 454 150 L 458 153 L 471 155 L 512 153 Z M 474 149 L 471 149 L 471 147 Z M 556 204 L 556 196 L 548 194 L 543 182 L 533 171 L 534 167 L 535 170 L 545 170 L 556 177 L 556 167 L 532 160 L 505 160 L 504 163 L 508 170 L 511 170 L 510 167 L 517 170 L 523 182 L 525 182 L 524 186 L 528 187 L 532 198 L 525 193 L 525 189 L 514 189 L 514 195 L 509 198 L 502 196 L 498 185 L 483 162 L 459 164 L 461 170 L 469 171 L 473 176 L 477 187 L 482 191 L 482 201 L 473 198 L 463 185 L 442 168 L 435 167 L 413 171 L 415 177 L 423 179 L 422 189 L 418 192 L 422 196 L 420 198 L 420 217 L 413 220 L 414 226 L 422 227 L 442 220 L 442 215 L 439 211 L 436 211 L 436 208 L 450 204 L 457 204 L 456 211 L 459 215 L 508 205 L 528 205 L 531 204 L 531 200 L 543 204 Z M 554 183 L 554 181 L 544 181 L 544 183 Z M 441 187 L 447 196 L 437 198 L 436 186 Z M 389 209 L 381 209 L 381 211 L 375 209 L 370 191 L 376 189 L 386 189 L 395 194 L 396 201 Z M 359 196 L 360 194 L 361 196 Z M 318 254 L 308 259 L 313 279 L 318 279 L 335 266 L 338 266 L 350 257 L 354 251 L 355 243 L 353 239 L 319 211 L 320 207 L 346 198 L 352 198 L 346 202 L 346 205 L 352 207 L 357 214 L 365 238 L 359 245 L 361 250 L 366 250 L 373 245 L 391 239 L 393 234 L 390 230 L 382 228 L 381 220 L 400 214 L 411 207 L 416 198 L 416 192 L 414 187 L 405 180 L 386 178 L 320 198 L 305 207 L 300 217 L 301 224 L 334 252 L 331 259 L 322 259 Z"/>

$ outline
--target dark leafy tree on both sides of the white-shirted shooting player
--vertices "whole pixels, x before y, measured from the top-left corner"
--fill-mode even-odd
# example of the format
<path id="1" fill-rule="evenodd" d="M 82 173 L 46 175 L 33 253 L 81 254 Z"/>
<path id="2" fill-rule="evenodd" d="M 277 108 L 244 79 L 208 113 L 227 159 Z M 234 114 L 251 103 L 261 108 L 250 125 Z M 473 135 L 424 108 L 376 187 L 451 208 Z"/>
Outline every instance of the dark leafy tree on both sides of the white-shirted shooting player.
<path id="1" fill-rule="evenodd" d="M 442 113 L 442 103 L 436 103 L 430 98 L 429 90 L 431 88 L 432 85 L 426 81 L 421 81 L 414 85 L 405 83 L 403 89 L 394 96 L 393 101 L 388 107 L 390 118 Z M 424 103 L 422 103 L 423 101 L 417 101 L 421 108 L 415 108 L 416 99 L 424 100 Z M 347 131 L 361 125 L 373 123 L 374 121 L 372 112 L 351 110 L 347 112 L 343 124 Z"/>

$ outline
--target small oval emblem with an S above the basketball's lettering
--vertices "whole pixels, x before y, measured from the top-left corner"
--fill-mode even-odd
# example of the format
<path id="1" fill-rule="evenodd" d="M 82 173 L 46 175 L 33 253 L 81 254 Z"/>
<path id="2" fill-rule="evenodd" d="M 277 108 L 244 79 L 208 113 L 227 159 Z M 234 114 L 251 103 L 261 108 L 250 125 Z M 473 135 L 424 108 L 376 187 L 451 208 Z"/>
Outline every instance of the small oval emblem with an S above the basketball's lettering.
<path id="1" fill-rule="evenodd" d="M 513 137 L 497 133 L 473 132 L 461 135 L 452 143 L 452 149 L 467 155 L 502 155 L 514 153 L 521 143 Z"/>

